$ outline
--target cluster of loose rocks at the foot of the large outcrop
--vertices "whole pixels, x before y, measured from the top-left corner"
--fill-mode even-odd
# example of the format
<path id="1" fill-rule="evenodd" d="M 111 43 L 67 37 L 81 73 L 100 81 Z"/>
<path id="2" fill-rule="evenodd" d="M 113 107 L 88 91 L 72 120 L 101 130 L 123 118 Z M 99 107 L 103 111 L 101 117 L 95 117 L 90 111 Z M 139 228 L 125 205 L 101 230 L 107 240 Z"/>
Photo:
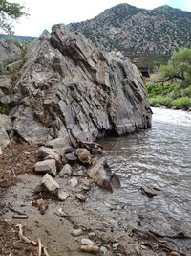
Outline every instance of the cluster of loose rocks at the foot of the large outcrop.
<path id="1" fill-rule="evenodd" d="M 77 175 L 88 175 L 100 187 L 113 192 L 113 188 L 120 186 L 117 175 L 112 174 L 111 169 L 107 165 L 104 157 L 97 157 L 96 154 L 102 154 L 101 145 L 95 142 L 80 141 L 78 148 L 71 147 L 69 137 L 56 138 L 41 146 L 38 151 L 38 159 L 34 165 L 34 172 L 44 174 L 39 184 L 35 188 L 36 193 L 49 192 L 56 195 L 59 200 L 66 200 L 69 194 L 60 190 L 59 184 L 53 179 L 56 175 L 60 177 L 72 176 L 74 173 L 74 165 L 80 164 L 81 170 L 77 171 Z M 114 178 L 115 182 L 113 182 Z M 78 180 L 72 177 L 69 180 L 72 188 L 77 186 Z M 84 184 L 84 189 L 89 189 Z M 79 201 L 85 201 L 82 194 L 77 194 Z"/>

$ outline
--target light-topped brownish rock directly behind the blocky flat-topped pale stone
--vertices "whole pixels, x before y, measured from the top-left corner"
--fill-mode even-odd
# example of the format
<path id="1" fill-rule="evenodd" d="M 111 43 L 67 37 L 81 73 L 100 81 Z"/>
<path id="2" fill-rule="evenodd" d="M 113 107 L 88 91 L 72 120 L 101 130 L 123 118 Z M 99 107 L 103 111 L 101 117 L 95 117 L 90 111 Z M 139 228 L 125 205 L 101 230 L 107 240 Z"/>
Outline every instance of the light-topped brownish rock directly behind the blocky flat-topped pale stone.
<path id="1" fill-rule="evenodd" d="M 39 159 L 55 159 L 56 167 L 58 169 L 61 169 L 63 164 L 61 160 L 61 155 L 58 154 L 53 149 L 47 148 L 47 147 L 40 147 L 38 149 L 38 157 Z"/>

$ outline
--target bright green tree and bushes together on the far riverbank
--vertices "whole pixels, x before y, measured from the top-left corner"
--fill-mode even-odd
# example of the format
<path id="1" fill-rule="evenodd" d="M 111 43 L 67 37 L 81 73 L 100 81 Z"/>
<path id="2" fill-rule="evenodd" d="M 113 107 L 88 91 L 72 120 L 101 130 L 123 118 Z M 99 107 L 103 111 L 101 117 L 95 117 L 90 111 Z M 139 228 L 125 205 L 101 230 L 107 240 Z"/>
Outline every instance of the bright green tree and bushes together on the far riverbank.
<path id="1" fill-rule="evenodd" d="M 155 83 L 152 83 L 156 81 Z M 151 105 L 191 107 L 191 49 L 181 48 L 146 85 Z"/>

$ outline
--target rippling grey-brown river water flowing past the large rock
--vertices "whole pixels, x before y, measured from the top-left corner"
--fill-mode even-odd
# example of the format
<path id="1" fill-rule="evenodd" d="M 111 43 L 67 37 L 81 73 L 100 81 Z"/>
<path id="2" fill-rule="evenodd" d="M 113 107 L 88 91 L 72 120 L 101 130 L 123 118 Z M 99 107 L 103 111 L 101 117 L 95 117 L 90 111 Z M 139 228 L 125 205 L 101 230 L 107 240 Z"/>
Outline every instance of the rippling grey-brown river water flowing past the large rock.
<path id="1" fill-rule="evenodd" d="M 122 187 L 113 194 L 95 193 L 93 198 L 110 206 L 117 220 L 131 226 L 165 235 L 190 234 L 191 113 L 161 108 L 153 112 L 151 129 L 101 142 Z M 142 185 L 158 188 L 158 195 L 143 195 Z M 98 211 L 104 213 L 101 207 Z M 190 251 L 191 240 L 180 246 Z"/>

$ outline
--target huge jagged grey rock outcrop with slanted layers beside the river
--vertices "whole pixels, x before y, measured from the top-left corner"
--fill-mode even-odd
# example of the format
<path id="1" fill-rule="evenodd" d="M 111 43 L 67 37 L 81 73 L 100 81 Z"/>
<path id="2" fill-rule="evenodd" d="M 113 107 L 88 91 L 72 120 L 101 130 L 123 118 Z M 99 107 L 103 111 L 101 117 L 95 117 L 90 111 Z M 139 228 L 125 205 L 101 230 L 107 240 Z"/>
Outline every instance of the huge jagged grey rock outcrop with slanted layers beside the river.
<path id="1" fill-rule="evenodd" d="M 25 58 L 9 103 L 13 134 L 26 142 L 69 135 L 75 145 L 150 127 L 143 81 L 128 58 L 97 51 L 63 25 L 32 41 Z"/>

